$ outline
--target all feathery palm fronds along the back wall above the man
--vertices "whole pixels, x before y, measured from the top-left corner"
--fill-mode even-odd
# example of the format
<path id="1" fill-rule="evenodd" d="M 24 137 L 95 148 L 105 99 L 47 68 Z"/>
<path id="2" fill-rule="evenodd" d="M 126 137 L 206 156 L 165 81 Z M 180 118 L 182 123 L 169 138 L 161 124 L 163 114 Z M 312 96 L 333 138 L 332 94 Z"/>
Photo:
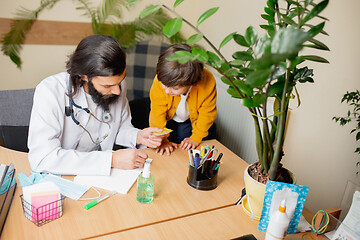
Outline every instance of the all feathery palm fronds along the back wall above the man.
<path id="1" fill-rule="evenodd" d="M 21 8 L 15 14 L 11 22 L 10 30 L 4 35 L 0 43 L 1 51 L 9 56 L 18 68 L 21 68 L 20 51 L 31 26 L 38 19 L 41 12 L 52 9 L 60 0 L 41 1 L 35 10 Z M 140 41 L 150 39 L 152 36 L 162 37 L 162 28 L 170 20 L 169 16 L 159 11 L 141 21 L 136 19 L 130 22 L 122 22 L 122 13 L 128 8 L 125 0 L 103 0 L 98 7 L 93 7 L 89 1 L 73 0 L 76 9 L 91 19 L 94 34 L 105 34 L 116 38 L 125 49 L 131 48 Z M 180 42 L 183 37 L 175 34 L 170 42 Z"/>

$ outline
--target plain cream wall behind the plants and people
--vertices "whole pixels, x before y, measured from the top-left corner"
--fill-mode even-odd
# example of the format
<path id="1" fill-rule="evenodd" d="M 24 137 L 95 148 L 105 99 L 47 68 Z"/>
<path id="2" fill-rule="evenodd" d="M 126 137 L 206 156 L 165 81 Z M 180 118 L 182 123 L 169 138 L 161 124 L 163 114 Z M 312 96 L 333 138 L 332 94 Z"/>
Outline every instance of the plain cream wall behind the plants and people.
<path id="1" fill-rule="evenodd" d="M 13 0 L 6 1 L 5 4 L 2 1 L 0 17 L 12 17 L 11 13 L 20 5 L 33 9 L 39 2 Z M 174 1 L 164 2 L 171 5 Z M 228 33 L 243 33 L 249 25 L 260 29 L 258 25 L 263 23 L 260 14 L 263 12 L 265 1 L 187 0 L 183 4 L 185 6 L 180 6 L 179 11 L 189 20 L 196 20 L 210 7 L 220 6 L 216 15 L 200 26 L 215 45 L 218 45 Z M 356 12 L 359 9 L 358 0 L 330 1 L 323 13 L 330 19 L 326 24 L 326 31 L 330 37 L 321 40 L 331 51 L 320 53 L 330 64 L 311 64 L 315 73 L 315 83 L 299 87 L 302 104 L 300 108 L 291 112 L 283 163 L 295 173 L 298 184 L 310 187 L 306 206 L 312 211 L 340 205 L 347 180 L 359 183 L 355 177 L 355 163 L 359 160 L 359 156 L 353 153 L 356 147 L 355 136 L 349 135 L 350 127 L 340 127 L 331 120 L 333 116 L 344 115 L 347 112 L 347 107 L 340 104 L 342 95 L 347 90 L 359 88 L 357 57 L 360 54 L 360 16 Z M 71 0 L 62 1 L 53 10 L 44 12 L 40 18 L 87 21 L 74 10 Z M 190 32 L 187 35 L 190 35 Z M 1 55 L 0 89 L 34 87 L 44 77 L 65 70 L 66 56 L 74 47 L 26 45 L 22 52 L 22 71 L 17 70 L 8 58 Z M 224 48 L 227 57 L 233 52 L 233 47 L 234 45 L 229 45 Z M 221 86 L 221 83 L 219 85 Z M 218 91 L 225 89 L 219 87 Z M 225 109 L 226 106 L 221 107 Z M 231 107 L 228 107 L 229 111 L 232 111 Z M 241 106 L 236 104 L 232 107 L 238 109 Z M 222 112 L 226 113 L 224 109 Z M 228 117 L 230 116 L 224 113 L 219 116 L 224 121 Z M 240 123 L 240 126 L 227 128 L 234 130 L 232 137 L 236 141 L 236 134 L 241 134 L 242 128 L 252 127 L 249 124 L 252 123 Z"/>

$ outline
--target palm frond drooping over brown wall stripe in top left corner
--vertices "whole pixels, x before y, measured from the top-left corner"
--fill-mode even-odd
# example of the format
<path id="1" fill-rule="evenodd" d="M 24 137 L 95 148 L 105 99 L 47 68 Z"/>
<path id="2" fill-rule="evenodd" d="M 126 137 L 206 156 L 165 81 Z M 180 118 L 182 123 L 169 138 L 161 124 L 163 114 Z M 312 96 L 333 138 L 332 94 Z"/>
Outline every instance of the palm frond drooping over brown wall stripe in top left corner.
<path id="1" fill-rule="evenodd" d="M 27 32 L 37 20 L 38 15 L 44 9 L 52 8 L 58 1 L 60 0 L 43 0 L 40 6 L 34 11 L 20 8 L 16 13 L 15 20 L 10 23 L 10 31 L 5 34 L 1 40 L 1 51 L 4 55 L 9 56 L 11 61 L 13 61 L 19 69 L 22 64 L 20 51 Z"/>

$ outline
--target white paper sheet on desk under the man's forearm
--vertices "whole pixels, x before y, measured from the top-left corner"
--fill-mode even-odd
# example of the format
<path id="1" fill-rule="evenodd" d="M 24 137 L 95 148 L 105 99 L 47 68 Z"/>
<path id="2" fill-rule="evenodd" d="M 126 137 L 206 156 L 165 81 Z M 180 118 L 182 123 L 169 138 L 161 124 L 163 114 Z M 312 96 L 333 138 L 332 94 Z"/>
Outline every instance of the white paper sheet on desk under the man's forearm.
<path id="1" fill-rule="evenodd" d="M 127 194 L 141 171 L 142 168 L 131 170 L 112 168 L 110 176 L 76 176 L 74 182 Z"/>

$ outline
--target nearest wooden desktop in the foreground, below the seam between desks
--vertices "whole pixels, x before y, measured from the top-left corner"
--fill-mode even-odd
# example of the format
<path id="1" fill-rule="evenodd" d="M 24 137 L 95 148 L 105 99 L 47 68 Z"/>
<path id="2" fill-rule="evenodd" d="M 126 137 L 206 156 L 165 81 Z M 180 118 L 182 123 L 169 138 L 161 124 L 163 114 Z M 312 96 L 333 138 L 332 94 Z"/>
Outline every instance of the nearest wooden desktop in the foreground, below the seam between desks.
<path id="1" fill-rule="evenodd" d="M 311 213 L 304 211 L 309 221 Z M 94 240 L 114 239 L 233 239 L 247 234 L 253 234 L 258 240 L 265 238 L 265 232 L 257 229 L 259 221 L 251 221 L 242 206 L 230 206 L 204 212 L 184 218 L 178 218 L 162 223 L 128 231 L 109 234 Z M 285 240 L 301 240 L 303 233 L 287 235 Z M 310 239 L 310 238 L 305 238 Z"/>

